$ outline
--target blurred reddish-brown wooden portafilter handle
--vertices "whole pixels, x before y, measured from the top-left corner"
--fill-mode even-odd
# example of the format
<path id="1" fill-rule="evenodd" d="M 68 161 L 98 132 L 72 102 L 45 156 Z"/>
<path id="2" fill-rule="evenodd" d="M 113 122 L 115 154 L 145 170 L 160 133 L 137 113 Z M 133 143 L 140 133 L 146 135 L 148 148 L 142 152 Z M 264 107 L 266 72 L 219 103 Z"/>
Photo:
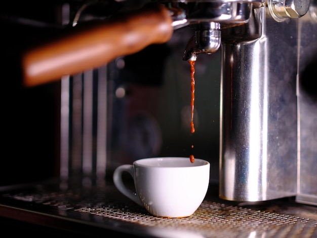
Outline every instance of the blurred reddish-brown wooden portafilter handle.
<path id="1" fill-rule="evenodd" d="M 73 32 L 55 42 L 25 51 L 22 55 L 23 84 L 27 87 L 60 80 L 100 67 L 117 57 L 136 53 L 151 44 L 169 41 L 172 18 L 163 5 L 99 22 Z"/>

